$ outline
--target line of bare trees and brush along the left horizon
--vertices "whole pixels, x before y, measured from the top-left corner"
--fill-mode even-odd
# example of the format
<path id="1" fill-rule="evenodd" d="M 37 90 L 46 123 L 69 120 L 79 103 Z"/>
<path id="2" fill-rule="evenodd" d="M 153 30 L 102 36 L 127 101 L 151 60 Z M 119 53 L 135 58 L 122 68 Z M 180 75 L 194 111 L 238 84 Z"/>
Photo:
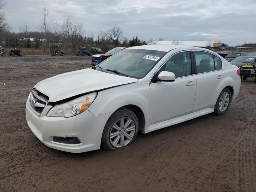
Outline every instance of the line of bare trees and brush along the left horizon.
<path id="1" fill-rule="evenodd" d="M 0 44 L 6 47 L 40 48 L 47 52 L 50 44 L 60 44 L 76 52 L 79 46 L 98 46 L 107 51 L 116 46 L 148 44 L 138 36 L 128 40 L 122 28 L 118 26 L 99 31 L 96 38 L 93 34 L 84 36 L 85 31 L 81 22 L 69 16 L 66 16 L 62 23 L 53 21 L 50 19 L 50 9 L 46 6 L 42 7 L 41 16 L 38 18 L 38 31 L 31 31 L 28 23 L 25 23 L 19 27 L 19 32 L 13 32 L 2 11 L 4 5 L 4 0 L 0 0 Z"/>

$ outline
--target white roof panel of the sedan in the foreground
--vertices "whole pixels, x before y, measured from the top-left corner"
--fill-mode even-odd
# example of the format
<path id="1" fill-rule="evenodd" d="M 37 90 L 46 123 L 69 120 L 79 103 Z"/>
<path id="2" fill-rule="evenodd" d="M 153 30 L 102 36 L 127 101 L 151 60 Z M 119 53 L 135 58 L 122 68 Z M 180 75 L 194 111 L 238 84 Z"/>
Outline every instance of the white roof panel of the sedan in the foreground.
<path id="1" fill-rule="evenodd" d="M 206 50 L 205 48 L 184 46 L 184 45 L 142 45 L 142 46 L 128 47 L 127 49 L 146 49 L 146 50 L 169 52 L 177 48 L 184 48 L 184 50 Z"/>

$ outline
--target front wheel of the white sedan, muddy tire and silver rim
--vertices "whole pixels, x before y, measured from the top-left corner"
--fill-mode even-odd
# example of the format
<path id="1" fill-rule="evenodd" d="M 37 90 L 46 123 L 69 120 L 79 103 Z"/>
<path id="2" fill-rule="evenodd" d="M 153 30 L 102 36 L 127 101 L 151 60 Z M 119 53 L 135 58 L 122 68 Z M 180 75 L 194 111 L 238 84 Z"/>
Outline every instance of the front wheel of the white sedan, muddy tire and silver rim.
<path id="1" fill-rule="evenodd" d="M 122 119 L 124 119 L 123 127 L 121 125 Z M 126 126 L 128 120 L 132 122 Z M 128 128 L 129 131 L 127 131 Z M 116 150 L 117 148 L 124 147 L 132 143 L 138 134 L 138 130 L 139 124 L 136 114 L 127 108 L 120 108 L 106 122 L 102 133 L 102 148 L 105 150 Z M 112 138 L 110 138 L 110 134 L 112 134 Z"/>

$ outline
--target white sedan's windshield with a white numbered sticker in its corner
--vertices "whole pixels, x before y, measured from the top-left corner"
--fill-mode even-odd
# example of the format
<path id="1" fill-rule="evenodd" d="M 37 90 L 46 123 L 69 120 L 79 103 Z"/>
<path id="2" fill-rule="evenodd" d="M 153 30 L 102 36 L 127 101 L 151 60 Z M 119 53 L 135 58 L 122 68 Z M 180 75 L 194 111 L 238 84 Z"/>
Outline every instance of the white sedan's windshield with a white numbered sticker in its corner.
<path id="1" fill-rule="evenodd" d="M 166 53 L 155 50 L 124 49 L 101 62 L 96 70 L 116 70 L 128 77 L 140 79 L 148 74 Z"/>

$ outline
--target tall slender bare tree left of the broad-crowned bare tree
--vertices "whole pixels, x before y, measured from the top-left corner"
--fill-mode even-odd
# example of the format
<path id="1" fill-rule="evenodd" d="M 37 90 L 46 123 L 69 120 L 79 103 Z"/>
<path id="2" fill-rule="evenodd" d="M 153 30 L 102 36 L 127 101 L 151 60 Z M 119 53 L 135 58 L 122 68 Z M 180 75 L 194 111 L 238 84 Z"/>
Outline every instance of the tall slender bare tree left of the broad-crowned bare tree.
<path id="1" fill-rule="evenodd" d="M 50 31 L 51 20 L 49 19 L 50 8 L 42 7 L 42 16 L 38 19 L 40 30 L 44 34 L 44 52 L 46 52 L 47 33 Z"/>

